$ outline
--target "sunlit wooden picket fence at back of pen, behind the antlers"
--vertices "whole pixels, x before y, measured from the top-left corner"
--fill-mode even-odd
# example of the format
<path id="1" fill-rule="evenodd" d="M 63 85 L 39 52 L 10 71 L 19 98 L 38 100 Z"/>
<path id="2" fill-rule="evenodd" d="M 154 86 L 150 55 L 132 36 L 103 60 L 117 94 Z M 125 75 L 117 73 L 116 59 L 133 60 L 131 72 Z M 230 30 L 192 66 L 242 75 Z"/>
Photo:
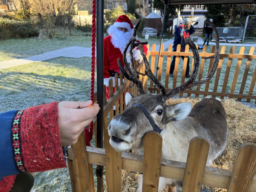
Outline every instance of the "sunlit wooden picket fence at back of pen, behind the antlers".
<path id="1" fill-rule="evenodd" d="M 184 96 L 183 95 L 184 93 L 187 93 L 186 95 L 187 97 L 191 97 L 191 94 L 194 94 L 194 97 L 199 97 L 201 95 L 203 95 L 203 97 L 206 97 L 207 95 L 210 95 L 213 97 L 220 96 L 221 99 L 223 99 L 224 97 L 237 98 L 238 101 L 241 101 L 241 99 L 246 99 L 246 102 L 251 102 L 251 99 L 253 99 L 255 100 L 255 103 L 256 103 L 256 96 L 252 95 L 253 88 L 255 86 L 255 81 L 256 81 L 256 55 L 253 54 L 255 48 L 251 47 L 248 54 L 244 53 L 245 48 L 243 46 L 240 48 L 239 54 L 234 54 L 235 46 L 232 46 L 230 48 L 230 53 L 228 54 L 225 53 L 225 49 L 226 49 L 226 46 L 221 47 L 218 68 L 215 72 L 213 79 L 206 83 L 205 89 L 202 90 L 202 87 L 198 86 L 197 88 L 183 91 L 182 93 L 179 94 L 179 96 Z M 158 54 L 159 54 L 159 51 L 155 51 L 155 50 L 156 50 L 156 44 L 153 44 L 152 51 L 148 52 L 148 57 L 151 55 L 151 62 L 149 61 L 149 63 L 151 63 L 152 71 L 155 71 L 156 64 L 157 64 L 156 56 L 158 57 Z M 177 51 L 173 52 L 171 44 L 168 47 L 168 51 L 163 51 L 163 50 L 164 50 L 164 45 L 162 44 L 161 54 L 159 59 L 159 66 L 158 66 L 159 67 L 158 79 L 161 80 L 161 78 L 165 76 L 165 80 L 163 81 L 163 84 L 165 85 L 167 90 L 170 90 L 170 88 L 175 88 L 176 86 L 179 85 L 179 83 L 177 82 L 178 74 L 182 74 L 180 84 L 183 84 L 185 82 L 187 59 L 188 59 L 188 56 L 193 57 L 193 53 L 191 52 L 191 50 L 189 52 L 188 45 L 186 45 L 185 47 L 185 52 L 180 51 L 180 45 L 177 46 Z M 200 59 L 200 69 L 199 69 L 198 80 L 201 80 L 203 78 L 204 68 L 206 72 L 209 72 L 209 70 L 211 69 L 213 64 L 213 58 L 210 59 L 209 64 L 207 63 L 208 66 L 205 65 L 206 60 L 204 58 L 214 55 L 216 46 L 212 46 L 211 53 L 206 53 L 206 50 L 207 50 L 207 46 L 205 45 L 203 46 L 202 52 L 199 52 L 199 56 L 201 59 Z M 174 77 L 170 78 L 169 71 L 170 71 L 170 65 L 172 60 L 171 56 L 173 55 L 176 55 L 177 57 L 175 60 Z M 164 56 L 167 57 L 166 65 L 165 64 L 163 65 Z M 182 69 L 180 69 L 182 71 L 179 71 L 178 65 L 181 59 L 179 58 L 179 56 L 184 56 L 183 67 Z M 230 69 L 233 68 L 233 65 L 234 65 L 234 62 L 232 63 L 232 61 L 234 61 L 234 59 L 236 58 L 237 58 L 236 69 L 234 70 L 234 73 L 231 73 Z M 223 62 L 223 60 L 225 61 L 225 63 Z M 242 60 L 247 60 L 244 70 L 241 70 Z M 253 65 L 251 66 L 251 64 Z M 250 66 L 254 67 L 254 73 L 252 75 L 252 78 L 250 78 L 251 82 L 247 80 Z M 166 71 L 165 71 L 166 75 L 162 75 L 162 73 L 164 73 L 163 68 L 166 68 Z M 208 71 L 206 68 L 208 68 Z M 190 71 L 191 72 L 193 71 L 193 58 L 192 58 L 192 61 L 190 60 Z M 219 84 L 220 82 L 222 82 L 222 80 L 220 79 L 221 71 L 225 72 L 222 85 Z M 235 93 L 239 76 L 243 76 L 243 78 L 241 81 L 239 93 Z M 172 84 L 170 84 L 170 82 L 172 82 Z M 231 84 L 231 82 L 232 82 L 232 85 L 231 87 L 229 87 L 228 85 Z M 245 85 L 247 85 L 247 88 Z M 213 89 L 209 90 L 209 86 L 212 86 Z M 219 91 L 217 91 L 218 87 L 220 87 Z M 150 81 L 150 86 L 148 87 L 148 90 L 150 91 L 150 93 L 152 93 L 154 89 L 159 92 L 159 89 L 155 88 L 153 82 Z"/>

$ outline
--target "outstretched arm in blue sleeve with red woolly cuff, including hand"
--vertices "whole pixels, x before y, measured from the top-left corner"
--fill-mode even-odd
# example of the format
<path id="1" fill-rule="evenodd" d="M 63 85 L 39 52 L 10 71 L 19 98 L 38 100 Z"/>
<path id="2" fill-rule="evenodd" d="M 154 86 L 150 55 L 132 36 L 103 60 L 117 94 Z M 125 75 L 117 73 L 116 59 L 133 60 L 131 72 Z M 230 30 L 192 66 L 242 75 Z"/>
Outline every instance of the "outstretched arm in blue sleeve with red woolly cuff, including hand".
<path id="1" fill-rule="evenodd" d="M 0 113 L 0 191 L 30 191 L 29 172 L 66 167 L 63 146 L 77 142 L 99 109 L 92 101 L 55 101 Z"/>

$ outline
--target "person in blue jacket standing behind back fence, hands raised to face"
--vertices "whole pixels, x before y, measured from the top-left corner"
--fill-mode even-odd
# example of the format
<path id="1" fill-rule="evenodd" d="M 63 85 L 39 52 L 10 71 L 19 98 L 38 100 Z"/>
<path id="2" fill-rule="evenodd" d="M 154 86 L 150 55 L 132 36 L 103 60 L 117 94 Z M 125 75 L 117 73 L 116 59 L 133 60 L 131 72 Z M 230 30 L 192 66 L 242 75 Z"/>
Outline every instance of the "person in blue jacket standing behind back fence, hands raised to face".
<path id="1" fill-rule="evenodd" d="M 191 25 L 192 21 L 190 19 L 184 19 L 182 24 L 176 27 L 174 32 L 174 44 L 173 44 L 173 51 L 177 50 L 177 45 L 181 45 L 180 51 L 185 51 L 186 42 L 185 39 L 189 38 L 189 35 L 195 33 L 195 28 L 193 25 Z M 184 56 L 181 56 L 181 58 L 184 60 Z M 176 56 L 173 56 L 171 67 L 170 67 L 170 76 L 173 77 L 173 71 L 175 67 L 175 59 Z M 190 77 L 189 75 L 189 57 L 187 59 L 187 68 L 186 68 L 186 76 L 187 78 Z"/>

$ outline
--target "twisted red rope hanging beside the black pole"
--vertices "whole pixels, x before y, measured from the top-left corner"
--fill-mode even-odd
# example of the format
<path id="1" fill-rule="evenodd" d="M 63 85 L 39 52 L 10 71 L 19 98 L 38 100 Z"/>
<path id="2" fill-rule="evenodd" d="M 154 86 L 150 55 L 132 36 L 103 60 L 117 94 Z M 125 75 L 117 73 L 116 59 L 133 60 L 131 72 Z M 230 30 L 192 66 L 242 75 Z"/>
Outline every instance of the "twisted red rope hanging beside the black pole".
<path id="1" fill-rule="evenodd" d="M 91 74 L 91 100 L 94 102 L 94 76 L 95 76 L 95 38 L 96 38 L 96 0 L 92 1 L 92 74 Z M 93 135 L 93 122 L 90 131 L 85 129 L 86 146 L 90 146 Z"/>

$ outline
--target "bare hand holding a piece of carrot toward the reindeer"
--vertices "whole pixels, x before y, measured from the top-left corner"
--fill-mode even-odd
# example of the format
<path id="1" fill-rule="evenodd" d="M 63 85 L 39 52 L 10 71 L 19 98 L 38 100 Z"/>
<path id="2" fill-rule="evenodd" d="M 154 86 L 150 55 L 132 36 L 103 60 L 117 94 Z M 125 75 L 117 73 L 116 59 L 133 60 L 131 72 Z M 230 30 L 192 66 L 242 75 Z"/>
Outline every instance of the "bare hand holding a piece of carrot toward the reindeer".
<path id="1" fill-rule="evenodd" d="M 84 127 L 92 122 L 100 108 L 92 101 L 62 101 L 58 104 L 59 132 L 62 146 L 75 144 Z M 80 108 L 78 108 L 80 106 Z"/>

